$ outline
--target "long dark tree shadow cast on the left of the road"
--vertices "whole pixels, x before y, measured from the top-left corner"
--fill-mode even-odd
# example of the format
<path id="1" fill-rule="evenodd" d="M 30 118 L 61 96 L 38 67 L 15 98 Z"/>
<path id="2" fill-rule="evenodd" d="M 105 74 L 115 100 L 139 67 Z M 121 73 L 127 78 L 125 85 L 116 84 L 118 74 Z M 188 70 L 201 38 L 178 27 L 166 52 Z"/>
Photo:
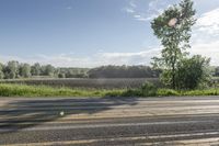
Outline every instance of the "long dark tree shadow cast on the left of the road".
<path id="1" fill-rule="evenodd" d="M 135 105 L 137 100 L 136 98 L 14 99 L 0 106 L 0 134 L 19 132 L 68 115 L 94 114 L 123 104 Z"/>

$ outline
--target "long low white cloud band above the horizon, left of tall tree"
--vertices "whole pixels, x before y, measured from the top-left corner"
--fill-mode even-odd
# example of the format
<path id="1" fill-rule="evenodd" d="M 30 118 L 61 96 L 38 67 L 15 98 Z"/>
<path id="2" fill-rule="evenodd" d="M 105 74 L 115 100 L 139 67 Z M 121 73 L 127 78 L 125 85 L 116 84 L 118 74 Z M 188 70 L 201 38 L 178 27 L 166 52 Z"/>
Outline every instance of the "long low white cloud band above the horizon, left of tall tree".
<path id="1" fill-rule="evenodd" d="M 3 63 L 19 60 L 20 63 L 51 64 L 56 67 L 96 67 L 102 65 L 150 65 L 151 58 L 158 55 L 160 48 L 151 48 L 137 53 L 96 53 L 90 57 L 74 55 L 37 55 L 32 57 L 0 56 Z"/>

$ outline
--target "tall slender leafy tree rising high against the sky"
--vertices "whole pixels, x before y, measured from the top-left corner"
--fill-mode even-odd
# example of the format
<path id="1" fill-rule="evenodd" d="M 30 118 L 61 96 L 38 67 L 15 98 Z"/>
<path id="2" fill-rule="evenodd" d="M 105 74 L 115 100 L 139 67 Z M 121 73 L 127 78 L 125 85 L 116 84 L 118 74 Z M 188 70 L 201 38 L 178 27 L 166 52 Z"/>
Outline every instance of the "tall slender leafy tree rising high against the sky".
<path id="1" fill-rule="evenodd" d="M 182 0 L 180 4 L 168 8 L 151 22 L 154 35 L 161 40 L 161 57 L 153 58 L 153 67 L 163 70 L 164 83 L 176 87 L 177 64 L 189 48 L 191 27 L 195 24 L 195 10 L 192 0 Z"/>

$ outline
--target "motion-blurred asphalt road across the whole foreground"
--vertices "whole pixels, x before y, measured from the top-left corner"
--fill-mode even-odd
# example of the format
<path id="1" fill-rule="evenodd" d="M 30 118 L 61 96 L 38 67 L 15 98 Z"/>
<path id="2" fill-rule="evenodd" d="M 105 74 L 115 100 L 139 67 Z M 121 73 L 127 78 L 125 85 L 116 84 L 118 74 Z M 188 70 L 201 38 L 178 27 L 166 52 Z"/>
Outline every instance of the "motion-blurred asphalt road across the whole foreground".
<path id="1" fill-rule="evenodd" d="M 219 145 L 219 97 L 0 98 L 0 145 Z"/>

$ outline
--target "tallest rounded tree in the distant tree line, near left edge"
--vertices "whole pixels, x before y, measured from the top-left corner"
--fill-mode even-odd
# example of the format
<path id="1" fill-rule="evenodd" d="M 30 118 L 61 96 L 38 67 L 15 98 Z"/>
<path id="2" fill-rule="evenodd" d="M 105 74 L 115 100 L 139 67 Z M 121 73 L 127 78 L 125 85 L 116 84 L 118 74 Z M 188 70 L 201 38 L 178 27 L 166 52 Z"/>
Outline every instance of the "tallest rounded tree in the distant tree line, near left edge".
<path id="1" fill-rule="evenodd" d="M 19 61 L 11 60 L 4 68 L 4 78 L 14 79 L 19 78 Z"/>

